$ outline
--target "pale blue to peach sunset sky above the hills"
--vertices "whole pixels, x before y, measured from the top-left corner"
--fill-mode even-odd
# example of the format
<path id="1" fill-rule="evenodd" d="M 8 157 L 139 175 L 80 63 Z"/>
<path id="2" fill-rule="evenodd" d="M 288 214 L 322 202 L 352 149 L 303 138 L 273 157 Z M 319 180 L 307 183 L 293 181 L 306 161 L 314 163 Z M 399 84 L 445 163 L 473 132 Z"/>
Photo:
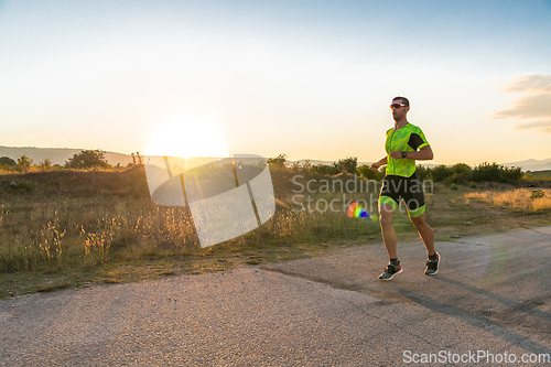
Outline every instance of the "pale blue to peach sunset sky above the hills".
<path id="1" fill-rule="evenodd" d="M 549 0 L 0 0 L 0 145 L 374 162 L 404 96 L 434 163 L 550 159 L 550 35 Z"/>

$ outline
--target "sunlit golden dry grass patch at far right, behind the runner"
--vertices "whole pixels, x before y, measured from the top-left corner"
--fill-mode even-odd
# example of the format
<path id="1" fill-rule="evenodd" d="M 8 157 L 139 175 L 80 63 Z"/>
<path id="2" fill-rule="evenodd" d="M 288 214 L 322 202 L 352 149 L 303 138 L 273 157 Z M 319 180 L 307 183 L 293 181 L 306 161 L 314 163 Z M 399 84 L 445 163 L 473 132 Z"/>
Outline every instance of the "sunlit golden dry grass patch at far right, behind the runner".
<path id="1" fill-rule="evenodd" d="M 465 194 L 467 199 L 478 199 L 500 208 L 518 212 L 551 209 L 551 190 L 517 188 L 515 191 L 485 191 Z"/>

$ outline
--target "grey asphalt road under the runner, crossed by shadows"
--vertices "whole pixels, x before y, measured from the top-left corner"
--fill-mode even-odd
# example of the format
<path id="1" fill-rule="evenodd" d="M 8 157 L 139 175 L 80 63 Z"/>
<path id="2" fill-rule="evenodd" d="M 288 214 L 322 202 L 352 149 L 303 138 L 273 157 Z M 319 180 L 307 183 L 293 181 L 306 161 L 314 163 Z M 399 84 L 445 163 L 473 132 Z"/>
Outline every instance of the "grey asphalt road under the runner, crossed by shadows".
<path id="1" fill-rule="evenodd" d="M 370 245 L 0 301 L 0 365 L 550 366 L 551 227 L 436 250 L 435 277 L 417 241 L 399 244 L 404 273 L 386 282 Z"/>

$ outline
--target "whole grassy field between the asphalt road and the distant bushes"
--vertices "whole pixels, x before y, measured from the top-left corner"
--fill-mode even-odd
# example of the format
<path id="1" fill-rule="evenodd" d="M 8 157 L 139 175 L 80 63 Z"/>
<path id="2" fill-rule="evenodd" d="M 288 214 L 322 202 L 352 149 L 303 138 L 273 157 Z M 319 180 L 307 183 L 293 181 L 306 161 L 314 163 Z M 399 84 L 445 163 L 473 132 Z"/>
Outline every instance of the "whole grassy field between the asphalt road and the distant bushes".
<path id="1" fill-rule="evenodd" d="M 377 199 L 375 184 L 349 175 L 284 169 L 271 173 L 274 216 L 245 236 L 204 249 L 186 208 L 151 202 L 141 166 L 0 176 L 0 298 L 224 271 L 334 253 L 348 246 L 382 246 L 376 220 L 346 214 L 350 201 L 377 214 L 376 205 L 370 208 Z M 347 190 L 353 180 L 364 188 Z M 315 193 L 298 192 L 307 182 Z M 426 203 L 437 240 L 551 224 L 547 188 L 436 185 Z M 395 224 L 399 240 L 417 237 L 406 213 L 398 213 Z"/>

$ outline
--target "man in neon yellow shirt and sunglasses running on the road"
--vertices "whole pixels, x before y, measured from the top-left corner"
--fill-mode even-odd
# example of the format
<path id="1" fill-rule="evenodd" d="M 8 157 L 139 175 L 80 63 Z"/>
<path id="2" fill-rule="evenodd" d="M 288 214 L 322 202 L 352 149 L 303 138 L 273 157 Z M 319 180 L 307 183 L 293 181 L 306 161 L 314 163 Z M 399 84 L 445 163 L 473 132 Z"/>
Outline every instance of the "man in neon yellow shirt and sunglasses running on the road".
<path id="1" fill-rule="evenodd" d="M 377 171 L 381 165 L 387 165 L 379 195 L 379 219 L 382 240 L 390 262 L 379 279 L 390 280 L 396 274 L 403 272 L 400 261 L 398 261 L 397 236 L 392 226 L 395 211 L 402 199 L 406 202 L 411 223 L 426 247 L 429 259 L 424 273 L 434 276 L 439 272 L 440 253 L 434 251 L 434 234 L 426 224 L 423 187 L 415 172 L 415 161 L 432 160 L 434 154 L 423 131 L 408 122 L 407 115 L 410 110 L 408 98 L 393 98 L 390 109 L 395 127 L 387 131 L 387 141 L 385 142 L 387 155 L 370 165 L 374 171 Z"/>

